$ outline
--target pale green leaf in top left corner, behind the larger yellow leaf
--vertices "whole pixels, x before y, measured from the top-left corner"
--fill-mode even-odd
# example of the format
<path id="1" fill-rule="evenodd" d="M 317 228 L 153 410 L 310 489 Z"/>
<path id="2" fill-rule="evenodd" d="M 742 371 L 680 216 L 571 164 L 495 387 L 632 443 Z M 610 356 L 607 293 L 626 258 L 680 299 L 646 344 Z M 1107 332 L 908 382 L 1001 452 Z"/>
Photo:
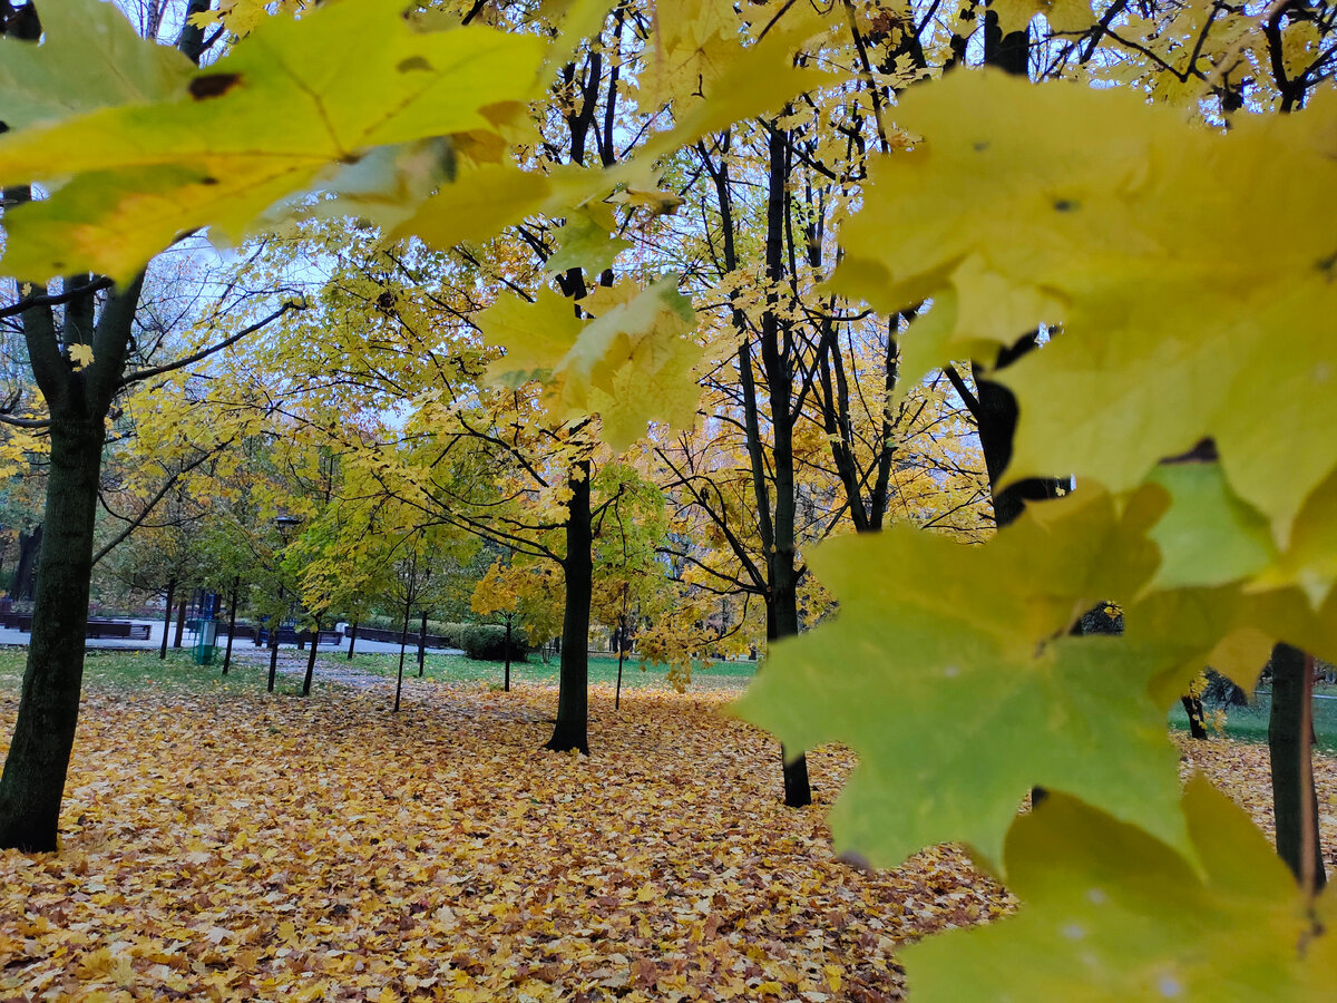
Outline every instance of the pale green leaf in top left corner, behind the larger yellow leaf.
<path id="1" fill-rule="evenodd" d="M 11 130 L 167 100 L 195 72 L 176 49 L 139 37 L 103 0 L 43 4 L 41 29 L 41 44 L 0 35 L 0 122 Z"/>

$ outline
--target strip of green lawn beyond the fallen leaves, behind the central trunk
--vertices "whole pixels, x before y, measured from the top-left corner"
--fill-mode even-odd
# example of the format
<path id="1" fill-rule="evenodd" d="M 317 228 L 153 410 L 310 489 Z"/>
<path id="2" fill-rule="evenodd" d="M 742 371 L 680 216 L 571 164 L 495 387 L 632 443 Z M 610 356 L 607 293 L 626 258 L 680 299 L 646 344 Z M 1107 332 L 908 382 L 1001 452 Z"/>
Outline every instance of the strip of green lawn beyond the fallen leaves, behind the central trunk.
<path id="1" fill-rule="evenodd" d="M 365 673 L 376 675 L 394 675 L 398 671 L 400 657 L 397 654 L 354 654 L 352 662 L 342 654 L 321 655 L 321 662 L 332 666 L 352 665 Z M 464 655 L 428 654 L 425 658 L 425 675 L 429 679 L 443 679 L 448 682 L 487 682 L 500 683 L 504 667 L 500 662 L 475 662 Z M 623 686 L 654 686 L 664 685 L 663 666 L 650 667 L 642 671 L 640 662 L 628 658 L 622 667 Z M 743 687 L 757 673 L 755 662 L 715 662 L 709 669 L 697 666 L 693 670 L 693 682 L 701 686 L 734 686 Z M 317 674 L 320 670 L 317 669 Z M 417 675 L 417 653 L 409 647 L 404 658 L 404 674 Z M 612 685 L 618 679 L 618 659 L 604 655 L 590 657 L 590 682 Z M 554 657 L 547 665 L 537 655 L 531 655 L 528 662 L 511 663 L 512 682 L 558 682 L 558 658 Z"/>

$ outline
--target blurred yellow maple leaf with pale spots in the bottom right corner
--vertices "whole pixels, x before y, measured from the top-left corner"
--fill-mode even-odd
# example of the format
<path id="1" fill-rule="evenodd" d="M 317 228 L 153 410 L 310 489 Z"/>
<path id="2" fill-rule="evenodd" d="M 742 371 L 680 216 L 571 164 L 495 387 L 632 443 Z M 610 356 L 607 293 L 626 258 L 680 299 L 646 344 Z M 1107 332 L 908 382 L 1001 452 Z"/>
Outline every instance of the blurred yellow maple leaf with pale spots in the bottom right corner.
<path id="1" fill-rule="evenodd" d="M 905 948 L 916 1000 L 1333 999 L 1330 923 L 1305 915 L 1285 864 L 1201 776 L 1183 810 L 1201 871 L 1140 829 L 1063 794 L 1007 840 L 1019 915 Z M 1320 913 L 1330 916 L 1326 893 Z"/>

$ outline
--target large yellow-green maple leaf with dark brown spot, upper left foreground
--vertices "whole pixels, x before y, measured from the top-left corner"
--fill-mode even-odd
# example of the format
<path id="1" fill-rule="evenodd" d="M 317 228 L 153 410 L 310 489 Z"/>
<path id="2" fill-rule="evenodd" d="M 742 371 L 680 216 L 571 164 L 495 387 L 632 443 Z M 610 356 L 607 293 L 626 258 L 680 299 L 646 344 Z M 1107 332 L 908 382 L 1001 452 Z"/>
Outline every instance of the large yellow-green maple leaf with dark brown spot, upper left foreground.
<path id="1" fill-rule="evenodd" d="M 301 20 L 274 17 L 171 94 L 5 135 L 0 183 L 43 181 L 53 191 L 7 215 L 3 267 L 124 280 L 183 231 L 209 226 L 218 241 L 239 239 L 275 203 L 337 181 L 377 147 L 496 132 L 523 118 L 541 39 L 417 31 L 401 7 L 344 0 Z M 96 58 L 83 48 L 45 52 L 48 72 Z M 404 160 L 384 167 L 385 187 L 404 189 Z M 365 193 L 368 179 L 357 186 Z"/>

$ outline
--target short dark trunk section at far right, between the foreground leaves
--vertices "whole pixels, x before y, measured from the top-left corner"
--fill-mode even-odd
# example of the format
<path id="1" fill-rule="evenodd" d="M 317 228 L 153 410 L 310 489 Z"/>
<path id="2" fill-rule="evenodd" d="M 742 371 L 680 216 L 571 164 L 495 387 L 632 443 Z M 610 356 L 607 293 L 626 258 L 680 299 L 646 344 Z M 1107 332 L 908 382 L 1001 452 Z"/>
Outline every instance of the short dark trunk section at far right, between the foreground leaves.
<path id="1" fill-rule="evenodd" d="M 1267 752 L 1271 758 L 1271 802 L 1277 816 L 1277 853 L 1296 879 L 1310 888 L 1328 880 L 1318 843 L 1318 798 L 1314 793 L 1313 662 L 1290 645 L 1271 650 L 1271 714 Z"/>

